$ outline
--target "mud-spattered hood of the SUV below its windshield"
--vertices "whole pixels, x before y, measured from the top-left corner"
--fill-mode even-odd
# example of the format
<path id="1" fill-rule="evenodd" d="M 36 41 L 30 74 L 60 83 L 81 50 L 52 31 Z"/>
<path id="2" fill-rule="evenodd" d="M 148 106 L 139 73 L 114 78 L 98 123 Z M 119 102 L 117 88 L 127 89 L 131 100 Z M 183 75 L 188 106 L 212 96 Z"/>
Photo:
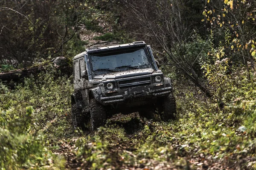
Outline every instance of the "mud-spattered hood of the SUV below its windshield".
<path id="1" fill-rule="evenodd" d="M 152 68 L 143 68 L 143 69 L 128 70 L 128 71 L 97 75 L 93 77 L 93 79 L 119 79 L 119 78 L 125 78 L 125 77 L 134 77 L 134 76 L 152 74 L 153 72 L 154 72 L 154 69 Z"/>

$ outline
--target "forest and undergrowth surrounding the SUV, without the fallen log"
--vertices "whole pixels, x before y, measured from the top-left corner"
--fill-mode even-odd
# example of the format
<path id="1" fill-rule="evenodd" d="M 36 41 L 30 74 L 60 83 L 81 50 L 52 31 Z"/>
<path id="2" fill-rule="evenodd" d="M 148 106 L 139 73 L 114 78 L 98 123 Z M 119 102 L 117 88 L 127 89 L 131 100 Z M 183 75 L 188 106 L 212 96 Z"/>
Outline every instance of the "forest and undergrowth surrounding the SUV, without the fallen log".
<path id="1" fill-rule="evenodd" d="M 256 0 L 1 0 L 0 167 L 255 169 Z M 72 128 L 72 75 L 51 64 L 95 43 L 144 40 L 175 87 L 178 120 L 117 115 Z"/>

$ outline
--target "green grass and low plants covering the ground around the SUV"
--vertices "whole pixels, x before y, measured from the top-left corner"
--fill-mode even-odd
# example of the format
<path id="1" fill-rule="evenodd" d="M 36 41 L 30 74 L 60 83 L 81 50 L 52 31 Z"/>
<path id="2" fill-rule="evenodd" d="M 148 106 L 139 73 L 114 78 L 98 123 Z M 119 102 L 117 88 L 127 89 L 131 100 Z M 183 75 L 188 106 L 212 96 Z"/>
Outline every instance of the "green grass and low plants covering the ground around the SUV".
<path id="1" fill-rule="evenodd" d="M 178 120 L 165 123 L 141 120 L 136 113 L 118 114 L 95 132 L 76 132 L 70 118 L 73 86 L 58 74 L 50 67 L 15 90 L 0 85 L 0 163 L 5 169 L 63 169 L 64 157 L 53 154 L 56 150 L 70 154 L 66 157 L 70 168 L 70 159 L 93 170 L 197 169 L 215 164 L 256 168 L 253 89 L 246 95 L 239 91 L 242 99 L 236 96 L 220 109 L 197 88 L 175 83 Z M 20 156 L 13 157 L 17 152 Z"/>

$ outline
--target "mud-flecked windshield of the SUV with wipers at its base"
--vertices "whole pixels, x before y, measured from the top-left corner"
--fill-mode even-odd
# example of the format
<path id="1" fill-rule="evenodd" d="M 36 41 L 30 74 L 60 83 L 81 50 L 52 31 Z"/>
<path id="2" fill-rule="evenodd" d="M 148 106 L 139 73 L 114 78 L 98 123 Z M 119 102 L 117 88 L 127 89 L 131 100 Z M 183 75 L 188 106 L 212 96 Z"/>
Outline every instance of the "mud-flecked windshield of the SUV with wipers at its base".
<path id="1" fill-rule="evenodd" d="M 122 49 L 90 55 L 94 74 L 102 72 L 126 71 L 141 68 L 153 68 L 146 48 Z"/>

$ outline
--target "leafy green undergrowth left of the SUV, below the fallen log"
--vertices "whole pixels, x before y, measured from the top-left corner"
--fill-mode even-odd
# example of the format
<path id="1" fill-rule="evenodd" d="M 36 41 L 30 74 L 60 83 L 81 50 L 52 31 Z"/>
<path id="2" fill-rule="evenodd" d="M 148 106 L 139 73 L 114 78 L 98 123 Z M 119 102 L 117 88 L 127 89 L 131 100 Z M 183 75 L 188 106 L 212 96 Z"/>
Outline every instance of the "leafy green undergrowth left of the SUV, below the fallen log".
<path id="1" fill-rule="evenodd" d="M 64 168 L 64 158 L 51 152 L 49 142 L 73 136 L 69 114 L 72 86 L 67 77 L 58 77 L 59 73 L 48 67 L 15 90 L 0 84 L 3 170 Z"/>

